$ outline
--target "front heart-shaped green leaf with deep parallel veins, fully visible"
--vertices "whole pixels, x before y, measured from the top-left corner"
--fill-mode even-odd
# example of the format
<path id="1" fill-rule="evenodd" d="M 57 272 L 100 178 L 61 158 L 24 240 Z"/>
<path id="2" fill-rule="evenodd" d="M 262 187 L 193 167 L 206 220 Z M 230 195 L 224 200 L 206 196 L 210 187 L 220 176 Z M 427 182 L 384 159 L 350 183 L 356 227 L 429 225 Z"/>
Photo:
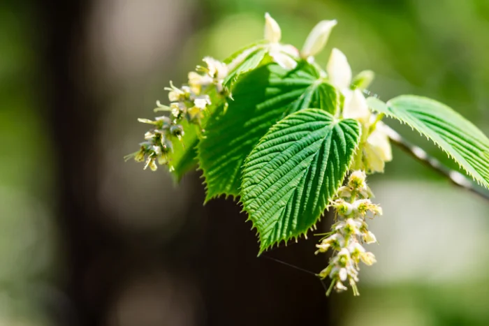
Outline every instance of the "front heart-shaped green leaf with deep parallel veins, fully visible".
<path id="1" fill-rule="evenodd" d="M 305 234 L 342 185 L 360 141 L 360 125 L 323 110 L 289 115 L 245 161 L 244 209 L 260 235 L 260 253 Z"/>

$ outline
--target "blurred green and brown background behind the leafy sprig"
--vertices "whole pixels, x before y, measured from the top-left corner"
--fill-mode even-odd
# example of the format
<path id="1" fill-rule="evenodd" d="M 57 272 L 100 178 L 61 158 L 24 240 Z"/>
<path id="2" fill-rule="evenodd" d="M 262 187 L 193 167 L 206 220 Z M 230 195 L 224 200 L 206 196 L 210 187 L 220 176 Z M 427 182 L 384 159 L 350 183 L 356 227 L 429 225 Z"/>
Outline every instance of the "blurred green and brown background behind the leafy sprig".
<path id="1" fill-rule="evenodd" d="M 124 163 L 168 81 L 260 39 L 266 11 L 298 47 L 336 18 L 319 62 L 338 47 L 381 99 L 430 96 L 489 133 L 488 0 L 3 0 L 0 325 L 489 325 L 488 202 L 402 151 L 370 178 L 384 216 L 358 298 L 256 258 L 197 172 L 175 187 Z M 316 239 L 267 255 L 319 272 Z"/>

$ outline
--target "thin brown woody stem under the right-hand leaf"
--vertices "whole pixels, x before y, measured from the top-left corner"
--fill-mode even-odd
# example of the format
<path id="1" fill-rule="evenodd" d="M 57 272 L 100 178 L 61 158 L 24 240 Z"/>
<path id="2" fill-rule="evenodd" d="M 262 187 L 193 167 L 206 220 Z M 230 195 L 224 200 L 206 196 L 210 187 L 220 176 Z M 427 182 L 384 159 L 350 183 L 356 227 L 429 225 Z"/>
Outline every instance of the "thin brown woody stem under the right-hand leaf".
<path id="1" fill-rule="evenodd" d="M 485 200 L 489 200 L 489 193 L 487 191 L 483 191 L 482 189 L 476 188 L 474 183 L 465 177 L 465 175 L 462 175 L 460 172 L 455 170 L 451 170 L 451 168 L 448 168 L 436 158 L 429 156 L 428 153 L 421 149 L 421 147 L 411 144 L 402 138 L 402 136 L 392 128 L 386 126 L 386 132 L 388 137 L 395 145 L 399 146 L 402 150 L 406 151 L 407 154 L 414 156 L 414 158 L 416 158 L 418 161 L 432 168 L 440 175 L 448 177 L 448 179 L 452 182 L 452 184 L 455 184 L 455 186 L 464 188 L 467 191 L 471 191 L 472 193 L 479 195 L 479 197 Z"/>

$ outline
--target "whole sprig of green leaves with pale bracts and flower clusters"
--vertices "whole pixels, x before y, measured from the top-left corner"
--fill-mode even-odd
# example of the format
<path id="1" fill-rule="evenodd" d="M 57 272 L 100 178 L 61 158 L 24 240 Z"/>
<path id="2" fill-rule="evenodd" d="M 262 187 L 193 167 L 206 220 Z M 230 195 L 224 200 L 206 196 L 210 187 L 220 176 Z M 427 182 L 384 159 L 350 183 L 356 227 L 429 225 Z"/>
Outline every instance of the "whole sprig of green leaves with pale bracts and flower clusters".
<path id="1" fill-rule="evenodd" d="M 486 188 L 489 140 L 451 108 L 428 98 L 365 99 L 361 90 L 374 73 L 363 71 L 352 80 L 348 60 L 336 48 L 326 71 L 314 64 L 312 56 L 323 49 L 335 24 L 319 22 L 298 52 L 280 43 L 282 30 L 265 14 L 265 40 L 224 62 L 206 57 L 207 66 L 189 73 L 187 84 L 167 88 L 172 103 L 159 108 L 169 117 L 142 120 L 152 130 L 133 157 L 152 170 L 156 162 L 170 165 L 178 180 L 199 165 L 206 201 L 240 197 L 258 232 L 260 253 L 305 235 L 328 207 L 333 209 L 332 232 L 316 244 L 316 253 L 333 250 L 333 255 L 318 276 L 332 279 L 327 293 L 346 290 L 348 282 L 358 295 L 358 263 L 376 261 L 362 245 L 377 242 L 365 217 L 382 214 L 370 200 L 366 173 L 383 172 L 392 160 L 388 137 L 393 133 L 379 121 L 383 114 L 433 140 Z M 375 119 L 372 110 L 382 114 Z M 412 152 L 432 162 L 421 151 Z M 431 165 L 455 184 L 472 186 Z"/>

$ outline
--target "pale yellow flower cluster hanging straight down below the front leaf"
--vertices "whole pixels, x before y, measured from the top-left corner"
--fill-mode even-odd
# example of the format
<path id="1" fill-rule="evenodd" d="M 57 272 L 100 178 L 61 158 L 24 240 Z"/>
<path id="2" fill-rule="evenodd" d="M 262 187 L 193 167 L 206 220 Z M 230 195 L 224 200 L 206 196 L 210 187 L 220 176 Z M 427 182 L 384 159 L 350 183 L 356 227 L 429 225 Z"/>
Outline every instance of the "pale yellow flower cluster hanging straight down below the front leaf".
<path id="1" fill-rule="evenodd" d="M 330 295 L 333 288 L 337 292 L 346 290 L 346 283 L 353 289 L 353 295 L 359 295 L 356 283 L 360 261 L 366 265 L 376 262 L 374 254 L 366 251 L 362 245 L 377 242 L 365 223 L 367 214 L 382 214 L 381 207 L 370 201 L 371 196 L 370 188 L 365 183 L 365 172 L 358 170 L 351 173 L 346 186 L 339 189 L 330 205 L 335 209 L 337 222 L 331 227 L 328 236 L 316 245 L 316 254 L 325 253 L 329 249 L 334 252 L 328 267 L 319 273 L 321 279 L 329 276 L 332 280 L 326 295 Z"/>

